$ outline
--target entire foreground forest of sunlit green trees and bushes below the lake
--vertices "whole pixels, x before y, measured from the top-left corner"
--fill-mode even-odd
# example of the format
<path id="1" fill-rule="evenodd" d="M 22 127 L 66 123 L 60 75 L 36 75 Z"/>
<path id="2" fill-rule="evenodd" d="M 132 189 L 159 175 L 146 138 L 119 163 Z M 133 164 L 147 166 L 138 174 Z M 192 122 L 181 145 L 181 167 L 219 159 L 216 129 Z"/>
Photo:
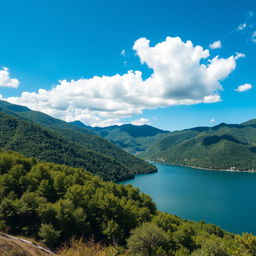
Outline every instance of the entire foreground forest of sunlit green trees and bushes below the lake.
<path id="1" fill-rule="evenodd" d="M 252 235 L 159 212 L 149 196 L 130 185 L 5 151 L 0 152 L 0 230 L 52 249 L 71 238 L 93 238 L 115 250 L 109 255 L 253 256 L 256 247 Z M 62 255 L 75 255 L 78 248 L 72 245 Z"/>

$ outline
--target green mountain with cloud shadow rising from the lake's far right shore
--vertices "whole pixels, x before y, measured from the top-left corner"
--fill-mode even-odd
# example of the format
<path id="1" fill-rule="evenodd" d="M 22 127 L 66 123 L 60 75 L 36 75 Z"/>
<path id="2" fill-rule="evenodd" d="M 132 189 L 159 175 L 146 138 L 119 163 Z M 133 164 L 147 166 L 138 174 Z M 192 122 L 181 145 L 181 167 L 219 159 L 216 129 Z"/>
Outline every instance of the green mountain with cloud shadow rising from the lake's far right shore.
<path id="1" fill-rule="evenodd" d="M 140 156 L 199 168 L 256 170 L 255 121 L 175 131 Z"/>

